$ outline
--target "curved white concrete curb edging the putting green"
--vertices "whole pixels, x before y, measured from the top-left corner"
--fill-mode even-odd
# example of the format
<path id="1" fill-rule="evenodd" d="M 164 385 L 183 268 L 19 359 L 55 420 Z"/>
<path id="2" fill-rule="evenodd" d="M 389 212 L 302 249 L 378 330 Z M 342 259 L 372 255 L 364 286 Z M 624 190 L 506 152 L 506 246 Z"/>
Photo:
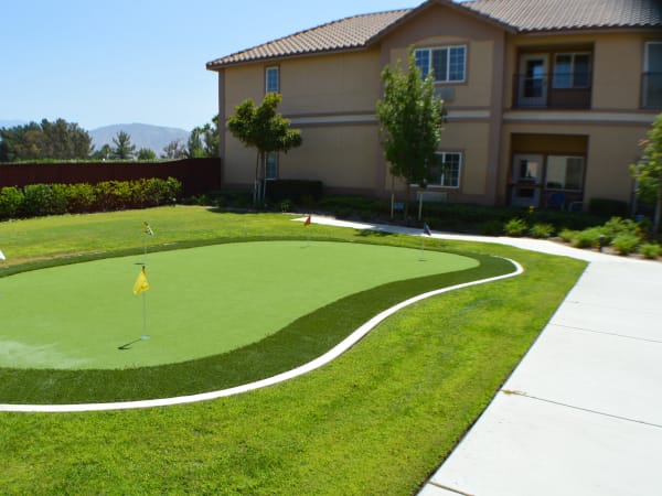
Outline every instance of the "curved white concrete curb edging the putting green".
<path id="1" fill-rule="evenodd" d="M 435 291 L 429 291 L 427 293 L 419 294 L 417 296 L 413 296 L 408 300 L 398 303 L 395 306 L 392 306 L 387 310 L 384 310 L 380 314 L 372 317 L 365 324 L 361 325 L 356 331 L 337 344 L 329 352 L 319 356 L 312 362 L 308 364 L 301 365 L 297 368 L 288 370 L 282 374 L 278 374 L 277 376 L 269 377 L 267 379 L 261 379 L 255 382 L 246 384 L 243 386 L 236 386 L 229 389 L 222 389 L 218 391 L 211 392 L 202 392 L 199 395 L 191 396 L 180 396 L 174 398 L 161 398 L 161 399 L 152 399 L 152 400 L 140 400 L 140 401 L 120 401 L 120 402 L 109 402 L 109 403 L 81 403 L 81 405 L 0 405 L 0 411 L 7 412 L 39 412 L 39 413 L 72 413 L 72 412 L 86 412 L 86 411 L 108 411 L 108 410 L 129 410 L 129 409 L 139 409 L 139 408 L 154 408 L 154 407 L 170 407 L 173 405 L 185 405 L 185 403 L 194 403 L 199 401 L 209 401 L 217 398 L 225 398 L 233 395 L 241 395 L 244 392 L 253 391 L 255 389 L 266 388 L 268 386 L 274 386 L 279 382 L 284 382 L 289 379 L 293 379 L 295 377 L 302 376 L 303 374 L 308 374 L 317 368 L 322 367 L 323 365 L 329 364 L 330 362 L 338 358 L 340 355 L 349 351 L 352 346 L 354 346 L 359 341 L 367 335 L 374 327 L 377 326 L 382 321 L 393 315 L 394 313 L 401 311 L 402 309 L 409 306 L 414 303 L 417 303 L 427 298 L 436 296 L 438 294 L 442 294 L 449 291 L 455 291 L 462 288 L 468 288 L 471 285 L 484 284 L 487 282 L 499 281 L 501 279 L 508 279 L 515 276 L 520 276 L 524 272 L 524 269 L 520 263 L 514 260 L 505 259 L 510 261 L 514 267 L 515 271 L 498 276 L 489 279 L 481 279 L 471 282 L 465 282 L 462 284 L 456 284 L 448 288 L 442 288 Z"/>

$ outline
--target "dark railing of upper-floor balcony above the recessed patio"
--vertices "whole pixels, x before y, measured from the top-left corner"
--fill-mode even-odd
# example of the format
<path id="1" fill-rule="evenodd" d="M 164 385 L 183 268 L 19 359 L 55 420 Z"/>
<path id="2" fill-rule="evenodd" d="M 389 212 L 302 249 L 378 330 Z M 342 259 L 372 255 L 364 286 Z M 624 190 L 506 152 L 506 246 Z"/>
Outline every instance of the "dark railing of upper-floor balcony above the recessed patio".
<path id="1" fill-rule="evenodd" d="M 513 78 L 515 108 L 590 108 L 590 73 L 516 74 Z"/>

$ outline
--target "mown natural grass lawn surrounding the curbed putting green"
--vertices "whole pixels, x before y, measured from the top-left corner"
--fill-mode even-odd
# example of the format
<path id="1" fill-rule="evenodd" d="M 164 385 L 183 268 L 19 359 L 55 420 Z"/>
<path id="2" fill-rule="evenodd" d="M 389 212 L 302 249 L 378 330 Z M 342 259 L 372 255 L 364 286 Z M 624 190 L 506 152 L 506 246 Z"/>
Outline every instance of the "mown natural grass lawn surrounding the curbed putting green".
<path id="1" fill-rule="evenodd" d="M 159 244 L 168 245 L 154 250 L 237 238 L 302 240 L 306 235 L 412 248 L 419 242 L 316 225 L 305 233 L 280 215 L 159 208 L 0 224 L 0 247 L 11 262 L 0 266 L 0 273 L 72 261 L 66 254 L 83 254 L 76 260 L 140 254 L 141 233 L 134 240 L 132 231 L 143 219 L 152 224 Z M 430 250 L 480 260 L 513 258 L 526 272 L 420 302 L 337 362 L 259 391 L 139 411 L 0 413 L 2 492 L 412 494 L 484 409 L 584 268 L 576 260 L 496 245 L 427 242 Z M 417 285 L 438 283 L 428 281 L 434 278 L 419 278 Z M 383 287 L 393 298 L 403 292 L 393 287 L 399 283 Z M 324 319 L 351 322 L 355 308 L 372 312 L 371 291 L 360 293 L 359 301 L 339 300 L 348 300 L 345 306 Z M 259 368 L 253 352 L 235 375 Z M 70 379 L 76 389 L 77 378 Z M 153 378 L 146 373 L 131 379 L 149 384 Z M 12 370 L 4 369 L 0 393 L 10 389 L 8 384 Z"/>

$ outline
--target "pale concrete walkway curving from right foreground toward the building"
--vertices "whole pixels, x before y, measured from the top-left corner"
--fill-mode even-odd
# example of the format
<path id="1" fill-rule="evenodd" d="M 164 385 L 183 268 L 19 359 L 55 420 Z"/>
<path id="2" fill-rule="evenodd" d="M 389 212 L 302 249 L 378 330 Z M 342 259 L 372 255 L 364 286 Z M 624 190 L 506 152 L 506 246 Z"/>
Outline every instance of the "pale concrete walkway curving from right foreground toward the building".
<path id="1" fill-rule="evenodd" d="M 434 236 L 590 263 L 419 496 L 662 494 L 662 263 L 551 241 Z"/>

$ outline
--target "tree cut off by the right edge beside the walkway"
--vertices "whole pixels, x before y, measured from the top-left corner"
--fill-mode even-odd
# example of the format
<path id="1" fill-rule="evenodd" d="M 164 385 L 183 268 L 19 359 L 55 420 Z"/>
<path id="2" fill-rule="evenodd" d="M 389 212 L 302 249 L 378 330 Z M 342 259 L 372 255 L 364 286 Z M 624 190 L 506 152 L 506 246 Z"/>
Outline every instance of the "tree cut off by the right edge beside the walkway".
<path id="1" fill-rule="evenodd" d="M 630 165 L 632 176 L 637 180 L 637 196 L 655 204 L 653 215 L 653 237 L 660 233 L 662 217 L 662 114 L 660 114 L 642 140 L 644 147 L 640 163 Z"/>

